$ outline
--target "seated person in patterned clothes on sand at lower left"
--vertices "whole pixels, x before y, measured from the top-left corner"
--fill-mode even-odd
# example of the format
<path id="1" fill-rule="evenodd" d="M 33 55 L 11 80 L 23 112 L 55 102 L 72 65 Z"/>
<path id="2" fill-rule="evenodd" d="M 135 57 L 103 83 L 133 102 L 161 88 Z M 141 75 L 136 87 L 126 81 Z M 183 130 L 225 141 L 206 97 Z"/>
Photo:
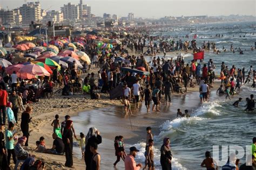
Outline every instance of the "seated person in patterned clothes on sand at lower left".
<path id="1" fill-rule="evenodd" d="M 26 137 L 23 136 L 18 139 L 18 143 L 15 145 L 14 150 L 18 160 L 25 160 L 30 156 L 28 151 L 25 151 L 22 146 L 25 145 Z"/>

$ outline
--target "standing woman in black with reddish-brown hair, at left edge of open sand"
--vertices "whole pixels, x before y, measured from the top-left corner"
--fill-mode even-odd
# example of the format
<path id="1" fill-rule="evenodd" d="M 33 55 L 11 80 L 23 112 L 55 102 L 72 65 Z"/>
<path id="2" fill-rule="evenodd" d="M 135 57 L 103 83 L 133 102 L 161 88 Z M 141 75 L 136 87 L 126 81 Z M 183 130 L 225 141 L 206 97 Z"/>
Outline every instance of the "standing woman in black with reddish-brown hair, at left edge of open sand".
<path id="1" fill-rule="evenodd" d="M 29 123 L 32 119 L 30 117 L 30 114 L 32 113 L 33 109 L 31 106 L 26 107 L 26 110 L 22 113 L 22 121 L 21 121 L 21 130 L 23 133 L 23 136 L 26 137 L 26 143 L 25 146 L 28 146 L 29 143 Z"/>

